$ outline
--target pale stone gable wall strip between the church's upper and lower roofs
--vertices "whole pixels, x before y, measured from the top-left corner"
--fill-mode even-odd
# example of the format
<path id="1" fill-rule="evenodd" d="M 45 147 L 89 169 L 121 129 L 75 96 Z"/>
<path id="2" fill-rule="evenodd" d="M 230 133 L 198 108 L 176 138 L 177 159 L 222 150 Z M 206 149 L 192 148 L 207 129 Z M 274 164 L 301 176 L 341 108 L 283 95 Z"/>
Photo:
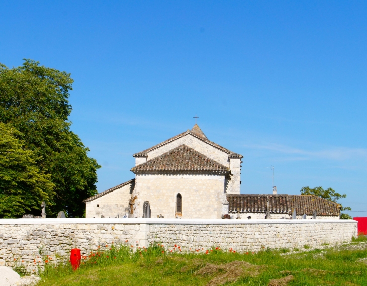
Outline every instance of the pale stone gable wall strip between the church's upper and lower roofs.
<path id="1" fill-rule="evenodd" d="M 159 147 L 158 149 L 155 149 L 153 151 L 150 151 L 148 153 L 148 160 L 151 160 L 155 157 L 158 157 L 162 155 L 163 153 L 166 153 L 182 144 L 185 144 L 189 146 L 190 148 L 193 148 L 194 150 L 198 151 L 199 153 L 202 153 L 203 155 L 213 159 L 214 161 L 229 167 L 229 161 L 228 161 L 228 154 L 213 147 L 210 146 L 208 143 L 203 142 L 202 140 L 199 140 L 195 138 L 194 136 L 188 134 L 184 137 L 181 137 L 175 141 L 172 141 L 166 145 L 163 145 Z"/>

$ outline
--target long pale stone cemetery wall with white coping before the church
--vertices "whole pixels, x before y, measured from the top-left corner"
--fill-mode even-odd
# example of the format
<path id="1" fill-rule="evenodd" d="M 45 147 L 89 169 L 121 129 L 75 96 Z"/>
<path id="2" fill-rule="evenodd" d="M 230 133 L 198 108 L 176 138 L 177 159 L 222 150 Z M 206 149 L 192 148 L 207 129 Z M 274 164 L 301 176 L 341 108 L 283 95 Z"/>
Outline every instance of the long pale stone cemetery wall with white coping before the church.
<path id="1" fill-rule="evenodd" d="M 36 272 L 45 259 L 67 261 L 72 248 L 87 255 L 113 243 L 136 249 L 156 241 L 182 251 L 220 245 L 245 252 L 334 245 L 352 236 L 357 236 L 354 220 L 1 219 L 0 264 Z"/>

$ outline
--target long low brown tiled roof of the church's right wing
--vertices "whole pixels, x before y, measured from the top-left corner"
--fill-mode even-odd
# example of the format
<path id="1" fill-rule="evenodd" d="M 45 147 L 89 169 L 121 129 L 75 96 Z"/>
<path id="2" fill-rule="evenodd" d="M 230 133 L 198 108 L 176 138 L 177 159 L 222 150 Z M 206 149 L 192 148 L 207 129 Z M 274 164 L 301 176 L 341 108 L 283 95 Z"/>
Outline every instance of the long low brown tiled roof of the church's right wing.
<path id="1" fill-rule="evenodd" d="M 316 210 L 318 216 L 339 216 L 340 205 L 314 195 L 227 195 L 228 211 L 236 213 L 266 213 L 267 202 L 269 211 L 274 214 L 291 214 L 296 209 L 297 215 L 312 215 Z"/>

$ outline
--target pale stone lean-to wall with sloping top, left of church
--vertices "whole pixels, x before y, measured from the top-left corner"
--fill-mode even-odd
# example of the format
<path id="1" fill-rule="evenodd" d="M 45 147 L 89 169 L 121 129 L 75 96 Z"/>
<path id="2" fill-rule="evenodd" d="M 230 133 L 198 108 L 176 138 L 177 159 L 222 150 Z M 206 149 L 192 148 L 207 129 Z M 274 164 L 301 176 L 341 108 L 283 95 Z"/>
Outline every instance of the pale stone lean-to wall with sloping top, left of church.
<path id="1" fill-rule="evenodd" d="M 122 218 L 129 207 L 131 184 L 115 189 L 93 201 L 85 204 L 86 218 L 116 218 L 117 214 Z"/>

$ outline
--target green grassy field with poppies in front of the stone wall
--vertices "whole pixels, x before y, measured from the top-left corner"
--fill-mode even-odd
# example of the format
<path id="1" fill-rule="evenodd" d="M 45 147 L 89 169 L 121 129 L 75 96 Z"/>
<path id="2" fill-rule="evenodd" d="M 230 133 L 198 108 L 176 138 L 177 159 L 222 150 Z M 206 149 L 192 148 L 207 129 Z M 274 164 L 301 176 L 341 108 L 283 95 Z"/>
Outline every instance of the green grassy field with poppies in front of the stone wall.
<path id="1" fill-rule="evenodd" d="M 38 286 L 82 285 L 367 285 L 367 238 L 324 249 L 264 249 L 238 254 L 157 244 L 133 253 L 130 246 L 100 248 L 73 271 L 48 264 Z M 306 246 L 307 248 L 307 246 Z M 172 252 L 171 252 L 172 250 Z"/>

